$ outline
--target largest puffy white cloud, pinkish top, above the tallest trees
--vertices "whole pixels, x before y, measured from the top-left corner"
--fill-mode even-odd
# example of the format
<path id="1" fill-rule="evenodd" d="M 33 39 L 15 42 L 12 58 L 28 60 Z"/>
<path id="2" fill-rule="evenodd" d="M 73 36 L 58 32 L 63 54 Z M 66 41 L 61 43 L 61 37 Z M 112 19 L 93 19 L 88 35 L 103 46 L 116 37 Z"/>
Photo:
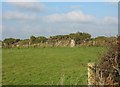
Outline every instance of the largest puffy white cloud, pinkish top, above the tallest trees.
<path id="1" fill-rule="evenodd" d="M 63 14 L 52 14 L 44 18 L 44 21 L 47 22 L 91 22 L 95 20 L 95 17 L 92 15 L 86 15 L 81 11 L 72 11 Z"/>

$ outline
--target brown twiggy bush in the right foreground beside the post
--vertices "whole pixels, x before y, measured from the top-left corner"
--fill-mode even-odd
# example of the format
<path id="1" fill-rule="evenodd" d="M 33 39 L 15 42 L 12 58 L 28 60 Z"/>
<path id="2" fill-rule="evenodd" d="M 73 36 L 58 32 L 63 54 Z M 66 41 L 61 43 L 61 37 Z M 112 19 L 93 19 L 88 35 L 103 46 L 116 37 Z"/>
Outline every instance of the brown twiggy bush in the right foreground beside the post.
<path id="1" fill-rule="evenodd" d="M 99 81 L 104 85 L 120 86 L 120 37 L 117 40 L 117 44 L 109 49 L 99 64 Z"/>

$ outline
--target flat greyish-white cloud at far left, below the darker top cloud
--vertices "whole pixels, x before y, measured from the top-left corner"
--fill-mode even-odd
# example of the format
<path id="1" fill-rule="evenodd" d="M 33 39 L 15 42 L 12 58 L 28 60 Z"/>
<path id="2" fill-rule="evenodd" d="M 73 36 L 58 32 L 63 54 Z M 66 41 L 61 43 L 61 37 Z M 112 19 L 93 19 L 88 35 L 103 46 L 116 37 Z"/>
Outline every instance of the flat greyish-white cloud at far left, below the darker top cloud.
<path id="1" fill-rule="evenodd" d="M 12 20 L 34 20 L 36 18 L 35 14 L 25 14 L 21 12 L 5 12 L 3 13 L 3 19 L 12 19 Z"/>

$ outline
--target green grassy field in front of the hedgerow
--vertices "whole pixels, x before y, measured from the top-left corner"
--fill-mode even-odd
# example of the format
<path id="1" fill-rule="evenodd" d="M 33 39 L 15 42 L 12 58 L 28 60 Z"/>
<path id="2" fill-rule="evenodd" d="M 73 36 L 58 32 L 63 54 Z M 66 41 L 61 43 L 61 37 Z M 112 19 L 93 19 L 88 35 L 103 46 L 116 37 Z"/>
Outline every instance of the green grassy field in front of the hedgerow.
<path id="1" fill-rule="evenodd" d="M 103 47 L 3 49 L 4 85 L 84 85 Z"/>

